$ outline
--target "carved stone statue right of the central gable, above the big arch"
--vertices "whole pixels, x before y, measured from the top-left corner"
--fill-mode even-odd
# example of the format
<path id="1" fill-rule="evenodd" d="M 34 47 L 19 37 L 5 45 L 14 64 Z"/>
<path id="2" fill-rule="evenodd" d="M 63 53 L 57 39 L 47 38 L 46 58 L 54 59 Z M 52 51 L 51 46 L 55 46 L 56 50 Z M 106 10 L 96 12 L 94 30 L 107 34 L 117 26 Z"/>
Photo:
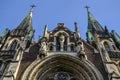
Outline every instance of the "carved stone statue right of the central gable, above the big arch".
<path id="1" fill-rule="evenodd" d="M 77 42 L 76 52 L 79 57 L 85 57 L 85 52 L 83 50 L 83 43 L 81 41 Z"/>

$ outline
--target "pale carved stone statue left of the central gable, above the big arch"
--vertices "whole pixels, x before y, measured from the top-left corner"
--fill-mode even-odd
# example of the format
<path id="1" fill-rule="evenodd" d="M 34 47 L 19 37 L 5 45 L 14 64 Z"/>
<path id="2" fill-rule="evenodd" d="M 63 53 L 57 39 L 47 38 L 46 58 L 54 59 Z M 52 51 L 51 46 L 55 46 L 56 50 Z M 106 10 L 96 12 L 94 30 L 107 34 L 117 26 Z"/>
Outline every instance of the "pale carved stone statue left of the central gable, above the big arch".
<path id="1" fill-rule="evenodd" d="M 47 55 L 46 38 L 41 39 L 39 52 L 40 57 L 45 57 Z"/>

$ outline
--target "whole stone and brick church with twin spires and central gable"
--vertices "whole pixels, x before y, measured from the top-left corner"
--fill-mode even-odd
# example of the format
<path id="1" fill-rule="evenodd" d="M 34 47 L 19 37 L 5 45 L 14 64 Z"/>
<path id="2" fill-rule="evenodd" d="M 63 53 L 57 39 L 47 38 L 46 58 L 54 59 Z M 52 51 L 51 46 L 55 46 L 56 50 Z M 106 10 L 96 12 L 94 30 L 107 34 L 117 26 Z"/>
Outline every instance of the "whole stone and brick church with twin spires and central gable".
<path id="1" fill-rule="evenodd" d="M 45 26 L 35 42 L 32 9 L 15 29 L 0 32 L 0 80 L 120 80 L 120 36 L 87 14 L 87 40 L 75 22 L 74 31 Z"/>

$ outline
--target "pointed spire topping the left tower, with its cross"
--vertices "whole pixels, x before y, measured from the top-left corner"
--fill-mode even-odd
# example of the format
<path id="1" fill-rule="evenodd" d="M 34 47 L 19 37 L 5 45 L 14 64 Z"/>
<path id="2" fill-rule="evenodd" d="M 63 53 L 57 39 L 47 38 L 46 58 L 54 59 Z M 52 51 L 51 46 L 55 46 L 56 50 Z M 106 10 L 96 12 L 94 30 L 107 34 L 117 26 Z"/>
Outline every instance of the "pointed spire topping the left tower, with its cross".
<path id="1" fill-rule="evenodd" d="M 11 32 L 11 36 L 25 36 L 27 35 L 32 28 L 32 12 L 34 5 L 31 6 L 31 9 L 28 15 L 22 20 L 22 22 L 18 25 L 18 27 Z"/>

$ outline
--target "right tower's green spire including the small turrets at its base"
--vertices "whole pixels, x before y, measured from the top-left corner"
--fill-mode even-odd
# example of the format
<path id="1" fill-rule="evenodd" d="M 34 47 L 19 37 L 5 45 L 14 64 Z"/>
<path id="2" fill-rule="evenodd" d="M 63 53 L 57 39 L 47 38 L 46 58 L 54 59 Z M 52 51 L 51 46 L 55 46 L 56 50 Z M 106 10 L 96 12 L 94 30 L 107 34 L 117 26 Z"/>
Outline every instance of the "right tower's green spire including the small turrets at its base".
<path id="1" fill-rule="evenodd" d="M 95 38 L 109 38 L 110 34 L 108 32 L 107 27 L 105 29 L 100 25 L 100 23 L 94 18 L 94 16 L 90 13 L 87 8 L 87 15 L 88 15 L 88 30 L 87 30 L 87 41 L 92 43 Z"/>

